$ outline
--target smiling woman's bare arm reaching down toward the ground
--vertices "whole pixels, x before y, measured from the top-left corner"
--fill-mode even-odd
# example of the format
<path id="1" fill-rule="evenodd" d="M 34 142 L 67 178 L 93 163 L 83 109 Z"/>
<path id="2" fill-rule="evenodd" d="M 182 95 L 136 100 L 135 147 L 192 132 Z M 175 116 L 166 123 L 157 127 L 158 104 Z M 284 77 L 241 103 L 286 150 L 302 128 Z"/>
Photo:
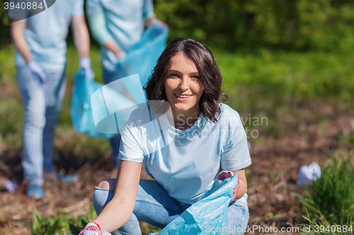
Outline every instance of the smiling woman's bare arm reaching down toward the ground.
<path id="1" fill-rule="evenodd" d="M 130 219 L 137 198 L 141 169 L 142 163 L 120 160 L 113 199 L 94 220 L 100 225 L 101 231 L 115 231 Z"/>

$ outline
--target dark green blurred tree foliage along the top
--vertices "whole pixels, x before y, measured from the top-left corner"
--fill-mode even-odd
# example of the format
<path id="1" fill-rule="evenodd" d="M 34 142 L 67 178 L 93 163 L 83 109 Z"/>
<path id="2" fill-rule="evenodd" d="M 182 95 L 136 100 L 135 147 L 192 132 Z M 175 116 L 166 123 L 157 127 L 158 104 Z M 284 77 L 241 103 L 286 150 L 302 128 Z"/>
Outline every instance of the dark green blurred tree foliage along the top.
<path id="1" fill-rule="evenodd" d="M 1 2 L 1 37 L 8 20 Z M 154 0 L 170 39 L 195 37 L 213 47 L 249 50 L 354 47 L 350 0 Z"/>

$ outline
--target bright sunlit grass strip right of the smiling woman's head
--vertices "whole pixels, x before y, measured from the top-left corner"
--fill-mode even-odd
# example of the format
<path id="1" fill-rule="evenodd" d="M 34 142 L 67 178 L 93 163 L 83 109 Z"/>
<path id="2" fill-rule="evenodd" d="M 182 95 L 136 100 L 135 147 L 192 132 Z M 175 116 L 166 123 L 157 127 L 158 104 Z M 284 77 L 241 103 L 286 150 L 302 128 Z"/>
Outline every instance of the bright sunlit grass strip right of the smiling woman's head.
<path id="1" fill-rule="evenodd" d="M 297 103 L 326 97 L 353 100 L 354 71 L 348 66 L 354 62 L 353 53 L 263 49 L 258 54 L 232 54 L 215 50 L 215 58 L 224 76 L 224 90 L 241 109 L 249 108 L 250 103 L 259 108 L 260 100 L 275 105 L 287 99 Z M 239 100 L 243 94 L 253 99 L 243 104 L 244 100 Z"/>

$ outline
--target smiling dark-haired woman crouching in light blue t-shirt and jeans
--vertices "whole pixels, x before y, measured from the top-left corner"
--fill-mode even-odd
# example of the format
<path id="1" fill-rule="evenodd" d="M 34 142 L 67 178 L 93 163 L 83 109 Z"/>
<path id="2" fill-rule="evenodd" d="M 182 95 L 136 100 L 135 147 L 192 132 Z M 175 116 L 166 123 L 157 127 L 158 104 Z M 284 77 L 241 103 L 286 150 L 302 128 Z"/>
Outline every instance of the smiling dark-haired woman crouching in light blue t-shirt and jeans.
<path id="1" fill-rule="evenodd" d="M 205 45 L 177 39 L 166 47 L 147 84 L 149 104 L 132 112 L 122 132 L 117 180 L 96 187 L 93 205 L 99 215 L 82 232 L 141 234 L 137 219 L 164 227 L 200 200 L 220 171 L 220 176 L 238 173 L 239 179 L 227 225 L 246 227 L 244 168 L 251 157 L 239 114 L 220 103 L 221 84 L 221 72 Z M 169 103 L 170 116 L 159 111 L 164 105 L 156 100 Z M 142 162 L 155 181 L 139 179 Z"/>

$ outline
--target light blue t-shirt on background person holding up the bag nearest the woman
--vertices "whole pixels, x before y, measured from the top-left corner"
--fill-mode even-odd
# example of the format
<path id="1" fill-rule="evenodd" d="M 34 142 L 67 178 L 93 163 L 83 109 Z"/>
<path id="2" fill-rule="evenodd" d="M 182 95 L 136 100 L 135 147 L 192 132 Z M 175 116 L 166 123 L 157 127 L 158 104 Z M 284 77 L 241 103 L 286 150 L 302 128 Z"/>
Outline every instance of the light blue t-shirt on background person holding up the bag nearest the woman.
<path id="1" fill-rule="evenodd" d="M 145 17 L 154 13 L 154 5 L 152 0 L 88 0 L 86 13 L 89 17 L 104 13 L 108 33 L 127 52 L 140 41 L 144 32 Z M 104 68 L 115 71 L 115 54 L 103 47 L 101 55 Z"/>

